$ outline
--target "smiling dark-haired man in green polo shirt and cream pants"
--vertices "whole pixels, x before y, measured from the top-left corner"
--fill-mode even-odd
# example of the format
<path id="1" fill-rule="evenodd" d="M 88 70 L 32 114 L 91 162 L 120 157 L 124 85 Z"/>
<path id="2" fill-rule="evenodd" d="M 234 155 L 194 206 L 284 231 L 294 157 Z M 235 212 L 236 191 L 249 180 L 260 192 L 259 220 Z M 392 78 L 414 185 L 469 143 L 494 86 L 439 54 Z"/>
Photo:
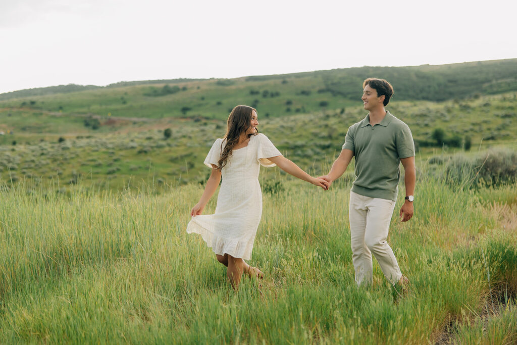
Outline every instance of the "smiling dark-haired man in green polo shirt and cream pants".
<path id="1" fill-rule="evenodd" d="M 386 278 L 403 287 L 408 279 L 386 242 L 397 200 L 400 163 L 404 166 L 406 198 L 400 209 L 402 221 L 413 217 L 415 190 L 415 146 L 409 127 L 384 107 L 393 87 L 384 79 L 363 82 L 362 101 L 368 115 L 348 128 L 345 143 L 330 172 L 322 176 L 329 186 L 340 177 L 355 156 L 355 179 L 350 192 L 349 220 L 352 261 L 358 285 L 372 282 L 372 253 Z"/>

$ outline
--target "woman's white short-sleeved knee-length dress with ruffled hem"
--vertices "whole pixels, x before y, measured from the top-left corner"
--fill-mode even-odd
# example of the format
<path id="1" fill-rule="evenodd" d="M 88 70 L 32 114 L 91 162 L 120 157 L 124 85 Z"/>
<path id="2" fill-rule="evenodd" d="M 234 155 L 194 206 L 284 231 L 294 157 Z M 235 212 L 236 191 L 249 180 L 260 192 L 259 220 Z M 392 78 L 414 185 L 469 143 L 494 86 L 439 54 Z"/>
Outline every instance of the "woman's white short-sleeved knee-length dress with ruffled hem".
<path id="1" fill-rule="evenodd" d="M 204 163 L 218 165 L 222 139 L 217 139 Z M 216 213 L 192 217 L 187 233 L 200 234 L 216 254 L 249 260 L 262 216 L 260 166 L 274 167 L 269 157 L 282 154 L 262 133 L 251 136 L 248 146 L 233 151 L 221 170 L 222 182 Z"/>

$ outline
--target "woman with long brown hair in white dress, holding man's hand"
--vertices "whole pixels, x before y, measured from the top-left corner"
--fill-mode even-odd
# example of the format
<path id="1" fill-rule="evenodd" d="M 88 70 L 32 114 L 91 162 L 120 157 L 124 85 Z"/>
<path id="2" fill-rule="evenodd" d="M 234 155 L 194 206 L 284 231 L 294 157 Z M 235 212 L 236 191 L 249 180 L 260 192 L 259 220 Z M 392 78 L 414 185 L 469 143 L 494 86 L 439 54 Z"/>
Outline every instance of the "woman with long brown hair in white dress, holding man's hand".
<path id="1" fill-rule="evenodd" d="M 262 216 L 260 166 L 280 169 L 324 189 L 327 182 L 314 178 L 283 157 L 264 134 L 257 134 L 257 112 L 248 106 L 235 107 L 227 121 L 224 139 L 217 139 L 204 163 L 212 169 L 200 201 L 192 208 L 188 233 L 200 234 L 227 266 L 227 276 L 237 290 L 242 273 L 263 278 L 260 269 L 248 265 Z M 208 200 L 222 183 L 216 212 L 201 215 Z"/>

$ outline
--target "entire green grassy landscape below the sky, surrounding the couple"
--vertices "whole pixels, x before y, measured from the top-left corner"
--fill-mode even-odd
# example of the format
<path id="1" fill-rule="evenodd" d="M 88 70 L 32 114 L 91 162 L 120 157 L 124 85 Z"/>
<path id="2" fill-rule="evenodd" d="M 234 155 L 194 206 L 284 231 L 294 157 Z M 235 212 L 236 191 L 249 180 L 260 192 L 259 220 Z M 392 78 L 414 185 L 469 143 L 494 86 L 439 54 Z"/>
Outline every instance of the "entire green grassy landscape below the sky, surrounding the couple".
<path id="1" fill-rule="evenodd" d="M 0 94 L 0 343 L 517 343 L 517 59 L 231 80 L 62 85 Z M 512 74 L 513 73 L 513 74 Z M 235 293 L 187 235 L 203 160 L 237 104 L 313 175 L 366 113 L 361 82 L 417 148 L 415 216 L 357 288 L 348 194 L 261 168 L 264 209 Z M 165 130 L 169 130 L 166 135 Z M 217 195 L 205 209 L 212 213 Z"/>

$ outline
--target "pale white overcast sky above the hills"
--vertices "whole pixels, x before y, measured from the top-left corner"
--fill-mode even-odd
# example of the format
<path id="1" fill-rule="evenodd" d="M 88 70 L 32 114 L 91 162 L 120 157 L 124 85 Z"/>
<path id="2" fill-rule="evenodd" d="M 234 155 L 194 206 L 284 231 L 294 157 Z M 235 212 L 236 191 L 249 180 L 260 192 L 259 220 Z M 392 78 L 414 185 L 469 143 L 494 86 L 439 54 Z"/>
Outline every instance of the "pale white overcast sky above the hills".
<path id="1" fill-rule="evenodd" d="M 0 93 L 517 57 L 515 0 L 0 0 Z"/>

